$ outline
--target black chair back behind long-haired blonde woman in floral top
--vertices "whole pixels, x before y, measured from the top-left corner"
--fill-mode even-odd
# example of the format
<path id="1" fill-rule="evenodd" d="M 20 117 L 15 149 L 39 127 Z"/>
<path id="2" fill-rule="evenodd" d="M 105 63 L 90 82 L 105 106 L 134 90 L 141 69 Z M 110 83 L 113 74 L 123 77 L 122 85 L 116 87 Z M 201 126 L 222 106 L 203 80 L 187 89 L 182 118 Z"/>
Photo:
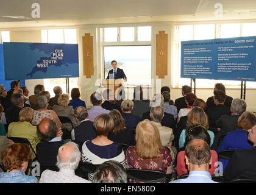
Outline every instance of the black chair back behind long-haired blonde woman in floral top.
<path id="1" fill-rule="evenodd" d="M 166 182 L 167 175 L 162 171 L 143 170 L 143 169 L 126 169 L 128 179 L 135 179 L 140 182 Z"/>

